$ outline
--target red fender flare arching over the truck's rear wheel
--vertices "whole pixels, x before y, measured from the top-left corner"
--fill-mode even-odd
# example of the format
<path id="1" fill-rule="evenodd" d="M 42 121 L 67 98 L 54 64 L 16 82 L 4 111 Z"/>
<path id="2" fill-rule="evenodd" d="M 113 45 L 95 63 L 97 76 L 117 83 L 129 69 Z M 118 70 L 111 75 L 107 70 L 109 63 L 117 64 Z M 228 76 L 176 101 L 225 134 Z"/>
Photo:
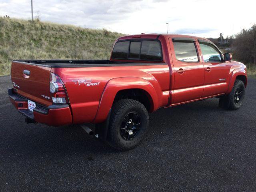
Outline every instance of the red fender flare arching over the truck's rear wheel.
<path id="1" fill-rule="evenodd" d="M 114 102 L 114 98 L 116 94 L 120 90 L 127 89 L 141 89 L 148 93 L 148 96 L 151 97 L 152 102 L 152 111 L 158 109 L 158 95 L 154 86 L 147 80 L 138 77 L 120 77 L 113 78 L 108 81 L 106 84 L 104 91 L 102 93 L 102 97 L 100 99 L 100 104 L 98 107 L 98 111 L 93 123 L 100 123 L 106 120 L 108 113 L 112 107 Z"/>

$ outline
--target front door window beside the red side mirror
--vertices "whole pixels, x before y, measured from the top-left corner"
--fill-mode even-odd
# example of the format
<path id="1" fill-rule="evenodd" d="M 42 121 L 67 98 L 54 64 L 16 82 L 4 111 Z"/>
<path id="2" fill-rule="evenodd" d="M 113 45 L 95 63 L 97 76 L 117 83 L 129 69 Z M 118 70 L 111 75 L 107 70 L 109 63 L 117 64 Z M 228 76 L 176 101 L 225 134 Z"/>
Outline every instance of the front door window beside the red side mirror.
<path id="1" fill-rule="evenodd" d="M 219 51 L 210 43 L 200 42 L 200 48 L 203 54 L 204 62 L 220 62 Z"/>

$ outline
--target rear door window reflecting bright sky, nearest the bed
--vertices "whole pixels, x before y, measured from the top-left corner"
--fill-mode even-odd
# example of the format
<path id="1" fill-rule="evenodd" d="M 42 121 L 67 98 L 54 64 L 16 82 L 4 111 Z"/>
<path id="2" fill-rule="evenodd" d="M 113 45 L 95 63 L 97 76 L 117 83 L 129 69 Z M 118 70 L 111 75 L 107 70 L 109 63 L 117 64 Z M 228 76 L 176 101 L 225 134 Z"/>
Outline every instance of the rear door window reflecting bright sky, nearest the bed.
<path id="1" fill-rule="evenodd" d="M 198 62 L 196 46 L 193 41 L 174 41 L 173 44 L 177 60 L 183 62 Z"/>

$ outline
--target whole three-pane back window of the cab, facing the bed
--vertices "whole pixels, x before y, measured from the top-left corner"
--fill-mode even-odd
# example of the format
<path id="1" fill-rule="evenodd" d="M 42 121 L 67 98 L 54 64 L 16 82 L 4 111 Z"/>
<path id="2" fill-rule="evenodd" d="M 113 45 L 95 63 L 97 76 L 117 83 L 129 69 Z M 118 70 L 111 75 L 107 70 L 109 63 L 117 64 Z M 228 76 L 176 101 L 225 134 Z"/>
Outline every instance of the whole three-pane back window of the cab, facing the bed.
<path id="1" fill-rule="evenodd" d="M 158 40 L 125 40 L 115 44 L 111 58 L 162 61 L 162 48 Z"/>

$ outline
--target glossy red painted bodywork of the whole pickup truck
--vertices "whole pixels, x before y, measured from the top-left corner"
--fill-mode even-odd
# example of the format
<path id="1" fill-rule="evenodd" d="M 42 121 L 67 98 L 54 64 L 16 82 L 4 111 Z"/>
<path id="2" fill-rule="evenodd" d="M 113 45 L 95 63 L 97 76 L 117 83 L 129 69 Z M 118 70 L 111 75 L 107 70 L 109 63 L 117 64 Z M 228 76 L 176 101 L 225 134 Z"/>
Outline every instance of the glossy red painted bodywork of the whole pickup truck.
<path id="1" fill-rule="evenodd" d="M 181 62 L 176 59 L 172 38 L 177 37 L 196 40 L 198 62 Z M 65 85 L 70 102 L 69 107 L 50 109 L 47 115 L 34 112 L 34 119 L 44 124 L 59 126 L 71 123 L 103 122 L 120 90 L 144 90 L 151 104 L 150 112 L 154 112 L 161 107 L 228 94 L 238 75 L 247 79 L 246 66 L 242 63 L 235 61 L 204 62 L 198 43 L 198 39 L 203 38 L 177 34 L 160 36 L 158 34 L 139 34 L 120 37 L 118 40 L 142 38 L 154 40 L 158 38 L 162 45 L 163 60 L 161 63 L 165 64 L 50 68 L 13 61 L 12 82 L 20 86 L 20 88 L 14 88 L 17 88 L 17 94 L 44 106 L 50 106 L 52 100 L 44 98 L 42 95 L 51 96 L 50 72 L 57 74 Z M 141 60 L 110 59 L 110 61 L 154 63 Z M 31 75 L 24 78 L 23 70 L 30 70 Z M 88 78 L 91 79 L 92 84 L 96 83 L 96 85 L 79 85 L 74 82 L 76 79 Z M 18 108 L 16 101 L 12 101 L 12 103 Z M 27 108 L 26 104 L 23 105 L 24 108 Z"/>

